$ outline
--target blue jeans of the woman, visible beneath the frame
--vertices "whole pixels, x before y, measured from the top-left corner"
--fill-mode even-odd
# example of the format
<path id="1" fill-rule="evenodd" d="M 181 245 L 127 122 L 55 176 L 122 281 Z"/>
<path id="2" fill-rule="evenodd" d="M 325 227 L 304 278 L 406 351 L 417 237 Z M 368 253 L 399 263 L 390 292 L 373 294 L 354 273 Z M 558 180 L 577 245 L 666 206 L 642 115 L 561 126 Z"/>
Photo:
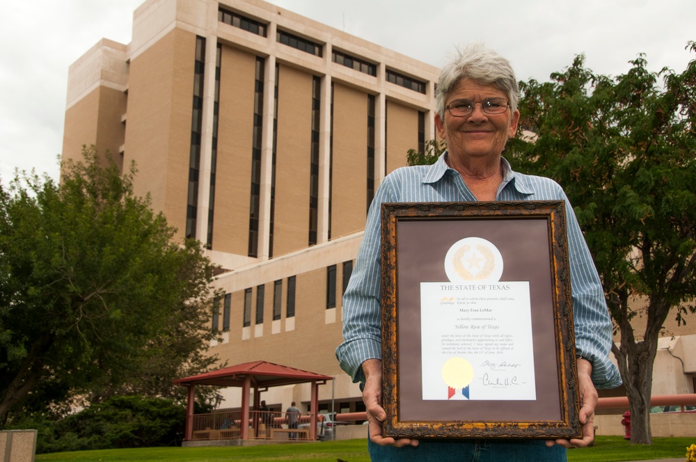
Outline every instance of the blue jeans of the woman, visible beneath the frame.
<path id="1" fill-rule="evenodd" d="M 541 440 L 420 440 L 417 447 L 379 446 L 367 440 L 373 462 L 566 462 L 566 449 Z"/>

